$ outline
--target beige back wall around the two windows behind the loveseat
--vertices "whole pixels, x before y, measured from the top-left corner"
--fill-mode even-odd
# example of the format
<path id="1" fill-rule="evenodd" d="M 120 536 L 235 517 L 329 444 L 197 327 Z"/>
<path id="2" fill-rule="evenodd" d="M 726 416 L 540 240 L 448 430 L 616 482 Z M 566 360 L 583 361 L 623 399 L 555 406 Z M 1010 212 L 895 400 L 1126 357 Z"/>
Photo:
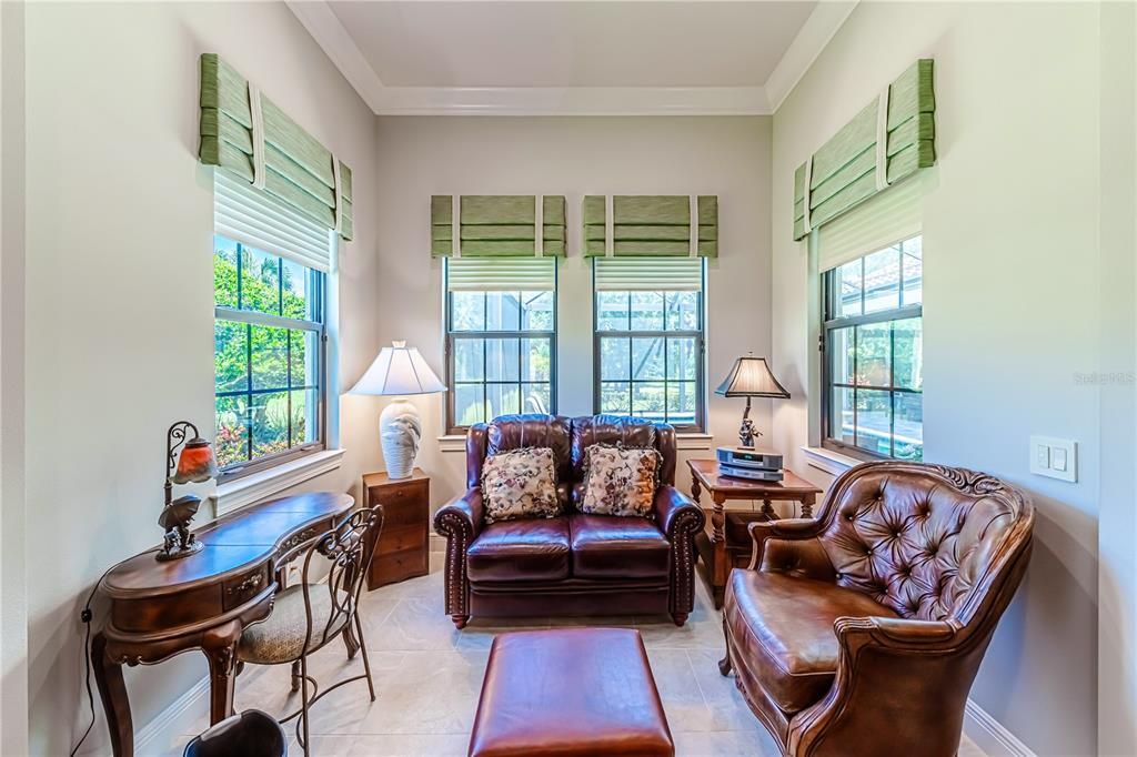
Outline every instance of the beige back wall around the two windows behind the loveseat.
<path id="1" fill-rule="evenodd" d="M 442 263 L 430 258 L 431 194 L 565 194 L 570 256 L 558 269 L 558 406 L 592 413 L 590 265 L 579 255 L 584 194 L 717 194 L 719 258 L 708 265 L 707 383 L 739 355 L 770 350 L 770 118 L 381 117 L 379 286 L 383 340 L 406 339 L 442 375 Z M 356 376 L 345 375 L 345 382 Z M 348 398 L 346 407 L 372 400 Z M 460 447 L 441 451 L 441 398 L 418 398 L 434 505 L 465 486 Z M 376 407 L 379 405 L 376 404 Z M 755 404 L 769 432 L 769 402 Z M 714 443 L 732 443 L 742 401 L 712 397 Z M 374 410 L 368 410 L 374 415 Z M 704 449 L 683 455 L 706 457 Z M 681 468 L 682 471 L 682 468 Z M 687 475 L 680 483 L 687 486 Z"/>

